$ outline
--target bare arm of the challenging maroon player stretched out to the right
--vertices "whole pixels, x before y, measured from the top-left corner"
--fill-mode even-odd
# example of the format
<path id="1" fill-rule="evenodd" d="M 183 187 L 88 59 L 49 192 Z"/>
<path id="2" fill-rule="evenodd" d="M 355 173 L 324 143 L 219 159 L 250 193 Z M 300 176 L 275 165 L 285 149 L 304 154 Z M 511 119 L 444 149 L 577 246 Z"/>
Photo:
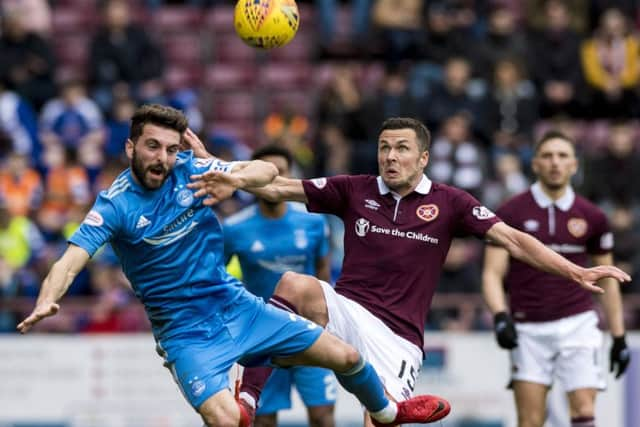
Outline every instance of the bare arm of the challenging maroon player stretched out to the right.
<path id="1" fill-rule="evenodd" d="M 547 248 L 538 239 L 504 222 L 494 224 L 487 231 L 487 237 L 503 246 L 512 257 L 548 273 L 574 280 L 591 292 L 604 292 L 602 288 L 596 286 L 596 282 L 605 277 L 612 277 L 620 282 L 631 280 L 627 273 L 611 265 L 584 268 L 574 264 Z"/>

